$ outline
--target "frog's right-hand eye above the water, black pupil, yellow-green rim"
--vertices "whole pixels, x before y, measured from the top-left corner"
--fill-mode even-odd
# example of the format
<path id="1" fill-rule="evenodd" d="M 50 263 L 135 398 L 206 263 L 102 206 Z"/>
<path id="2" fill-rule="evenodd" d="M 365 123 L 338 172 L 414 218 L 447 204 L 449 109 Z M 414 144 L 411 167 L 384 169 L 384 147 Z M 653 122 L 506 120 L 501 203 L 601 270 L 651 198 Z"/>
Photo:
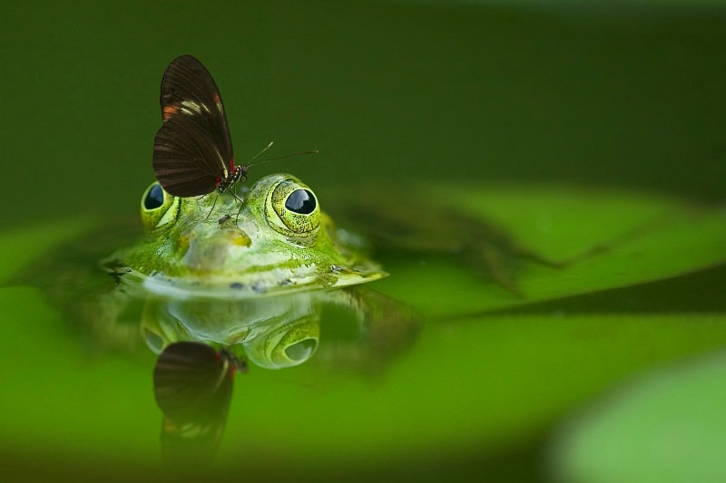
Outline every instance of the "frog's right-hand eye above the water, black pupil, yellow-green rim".
<path id="1" fill-rule="evenodd" d="M 286 178 L 273 185 L 265 212 L 270 227 L 289 237 L 309 237 L 320 226 L 318 198 L 298 179 Z"/>

